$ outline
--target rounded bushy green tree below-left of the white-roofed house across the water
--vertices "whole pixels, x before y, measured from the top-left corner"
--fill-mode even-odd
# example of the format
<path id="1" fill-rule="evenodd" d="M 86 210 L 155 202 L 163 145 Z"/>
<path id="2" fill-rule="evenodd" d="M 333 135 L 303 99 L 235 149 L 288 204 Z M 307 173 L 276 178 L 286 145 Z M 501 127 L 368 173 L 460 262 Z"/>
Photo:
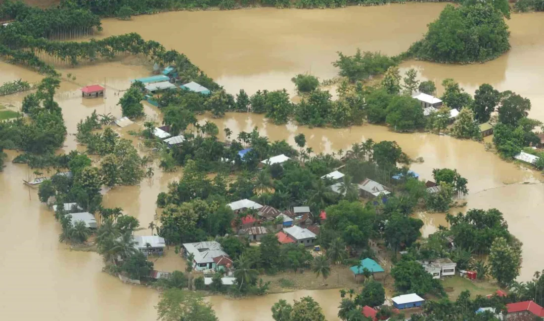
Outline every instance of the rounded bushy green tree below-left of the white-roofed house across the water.
<path id="1" fill-rule="evenodd" d="M 421 103 L 412 97 L 394 97 L 386 113 L 385 121 L 395 131 L 413 131 L 425 125 Z"/>

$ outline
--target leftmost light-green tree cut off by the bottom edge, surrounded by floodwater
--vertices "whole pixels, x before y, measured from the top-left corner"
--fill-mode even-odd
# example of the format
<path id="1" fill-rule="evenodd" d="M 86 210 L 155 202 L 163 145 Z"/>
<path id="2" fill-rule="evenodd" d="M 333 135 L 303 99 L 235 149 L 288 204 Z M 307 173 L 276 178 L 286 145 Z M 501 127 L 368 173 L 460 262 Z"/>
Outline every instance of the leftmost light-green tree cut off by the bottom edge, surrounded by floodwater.
<path id="1" fill-rule="evenodd" d="M 167 289 L 155 306 L 160 321 L 218 321 L 212 305 L 201 295 L 181 289 Z"/>

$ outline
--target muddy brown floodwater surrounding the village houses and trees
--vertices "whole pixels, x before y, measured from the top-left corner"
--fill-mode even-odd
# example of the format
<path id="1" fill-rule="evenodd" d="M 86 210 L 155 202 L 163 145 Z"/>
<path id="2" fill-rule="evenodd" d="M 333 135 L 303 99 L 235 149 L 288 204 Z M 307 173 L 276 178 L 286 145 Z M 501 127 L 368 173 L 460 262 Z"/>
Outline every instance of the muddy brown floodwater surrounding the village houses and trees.
<path id="1" fill-rule="evenodd" d="M 387 54 L 403 51 L 425 32 L 443 4 L 390 5 L 376 8 L 346 8 L 337 10 L 274 10 L 255 9 L 227 12 L 170 12 L 140 16 L 132 21 L 104 21 L 104 34 L 138 32 L 146 39 L 162 42 L 168 48 L 187 53 L 205 72 L 219 80 L 230 92 L 245 88 L 288 87 L 296 73 L 311 71 L 322 79 L 336 71 L 330 61 L 336 51 L 353 52 L 381 50 Z M 544 121 L 542 93 L 537 89 L 544 80 L 544 15 L 512 15 L 508 21 L 512 37 L 511 51 L 483 65 L 443 66 L 409 61 L 403 67 L 418 68 L 421 79 L 441 81 L 453 77 L 468 91 L 488 82 L 500 90 L 514 90 L 533 102 L 531 116 Z M 409 20 L 410 23 L 405 23 Z M 212 24 L 199 23 L 213 21 Z M 401 24 L 400 21 L 403 21 Z M 200 28 L 200 29 L 199 29 Z M 194 30 L 199 29 L 199 33 Z M 57 95 L 63 109 L 69 134 L 76 132 L 79 119 L 98 114 L 121 115 L 116 104 L 126 90 L 129 80 L 150 74 L 149 66 L 135 59 L 122 59 L 94 66 L 66 68 L 76 80 L 65 81 Z M 22 78 L 39 81 L 42 76 L 22 67 L 0 62 L 0 82 Z M 82 99 L 78 89 L 95 83 L 107 86 L 105 99 Z M 24 93 L 0 97 L 0 103 L 18 109 Z M 150 119 L 160 121 L 158 110 L 145 105 Z M 528 280 L 542 268 L 539 247 L 542 219 L 539 206 L 544 202 L 544 185 L 540 173 L 515 163 L 500 160 L 486 152 L 483 144 L 455 140 L 432 134 L 395 134 L 385 127 L 364 125 L 350 129 L 309 129 L 294 124 L 276 126 L 260 115 L 228 113 L 225 118 L 211 119 L 219 128 L 231 128 L 236 136 L 257 126 L 271 141 L 286 139 L 294 144 L 294 136 L 304 133 L 308 146 L 316 152 L 330 153 L 347 150 L 353 142 L 372 138 L 375 141 L 395 140 L 412 158 L 422 156 L 423 163 L 412 169 L 423 179 L 430 179 L 433 168 L 450 167 L 468 179 L 467 208 L 497 207 L 503 211 L 510 231 L 524 243 L 523 268 L 520 280 Z M 123 137 L 138 130 L 141 122 L 125 129 L 115 128 Z M 222 134 L 220 130 L 220 134 Z M 138 144 L 137 140 L 134 140 Z M 73 135 L 67 136 L 64 150 L 81 149 Z M 8 160 L 15 157 L 8 153 Z M 162 173 L 156 162 L 154 176 L 139 186 L 121 186 L 105 191 L 106 206 L 120 206 L 137 217 L 143 227 L 153 220 L 156 196 L 166 191 L 168 183 L 179 179 L 181 172 Z M 0 313 L 5 319 L 44 320 L 111 320 L 156 319 L 153 306 L 158 293 L 153 289 L 128 286 L 102 273 L 101 257 L 96 253 L 73 251 L 58 242 L 60 226 L 53 213 L 38 201 L 35 190 L 22 185 L 22 179 L 32 177 L 26 166 L 7 162 L 0 173 L 0 250 L 4 275 L 0 294 Z M 527 184 L 524 184 L 527 183 Z M 465 209 L 458 209 L 465 210 Z M 455 212 L 456 210 L 453 210 Z M 416 214 L 425 222 L 424 235 L 446 224 L 443 214 Z M 149 234 L 149 229 L 138 231 Z M 163 270 L 183 269 L 183 262 L 170 250 L 155 262 Z M 280 298 L 292 301 L 312 295 L 322 305 L 329 320 L 336 319 L 339 295 L 337 290 L 297 291 L 270 294 L 265 297 L 229 300 L 210 297 L 221 321 L 271 320 L 270 306 Z M 29 307 L 29 303 L 30 306 Z"/>

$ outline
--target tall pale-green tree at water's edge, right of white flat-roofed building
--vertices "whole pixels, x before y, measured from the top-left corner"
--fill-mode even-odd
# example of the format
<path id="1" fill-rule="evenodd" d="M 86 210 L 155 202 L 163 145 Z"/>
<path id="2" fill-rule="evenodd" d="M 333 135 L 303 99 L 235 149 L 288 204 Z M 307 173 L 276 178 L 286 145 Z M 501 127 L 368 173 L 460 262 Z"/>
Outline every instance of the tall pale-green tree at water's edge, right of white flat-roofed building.
<path id="1" fill-rule="evenodd" d="M 509 285 L 520 275 L 521 248 L 508 244 L 504 237 L 497 237 L 489 252 L 490 273 L 501 285 Z"/>

